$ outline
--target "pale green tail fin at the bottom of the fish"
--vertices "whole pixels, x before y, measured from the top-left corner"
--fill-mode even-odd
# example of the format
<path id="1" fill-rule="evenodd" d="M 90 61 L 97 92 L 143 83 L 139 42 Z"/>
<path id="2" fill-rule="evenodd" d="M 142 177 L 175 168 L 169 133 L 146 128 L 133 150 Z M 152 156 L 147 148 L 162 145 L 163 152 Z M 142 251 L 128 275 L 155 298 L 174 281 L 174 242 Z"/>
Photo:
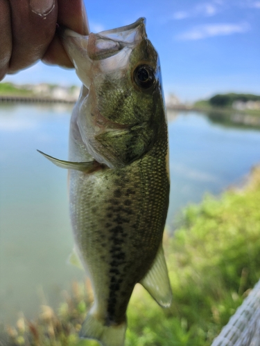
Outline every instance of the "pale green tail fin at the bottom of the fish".
<path id="1" fill-rule="evenodd" d="M 106 326 L 92 312 L 87 315 L 80 330 L 80 338 L 98 340 L 103 346 L 123 346 L 125 341 L 126 321 L 120 325 Z"/>

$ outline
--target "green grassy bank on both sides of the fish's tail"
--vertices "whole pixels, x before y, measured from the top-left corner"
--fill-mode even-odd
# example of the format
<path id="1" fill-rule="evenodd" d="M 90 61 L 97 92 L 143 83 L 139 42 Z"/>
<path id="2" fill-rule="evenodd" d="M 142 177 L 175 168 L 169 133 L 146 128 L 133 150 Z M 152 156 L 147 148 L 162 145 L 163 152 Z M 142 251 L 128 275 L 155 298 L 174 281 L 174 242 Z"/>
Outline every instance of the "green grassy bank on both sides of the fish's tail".
<path id="1" fill-rule="evenodd" d="M 128 308 L 125 346 L 209 346 L 260 277 L 260 168 L 243 190 L 206 196 L 183 212 L 165 253 L 173 304 L 160 308 L 137 285 Z M 88 293 L 87 293 L 88 292 Z M 97 346 L 79 340 L 92 301 L 89 283 L 73 284 L 60 309 L 6 328 L 4 345 Z"/>

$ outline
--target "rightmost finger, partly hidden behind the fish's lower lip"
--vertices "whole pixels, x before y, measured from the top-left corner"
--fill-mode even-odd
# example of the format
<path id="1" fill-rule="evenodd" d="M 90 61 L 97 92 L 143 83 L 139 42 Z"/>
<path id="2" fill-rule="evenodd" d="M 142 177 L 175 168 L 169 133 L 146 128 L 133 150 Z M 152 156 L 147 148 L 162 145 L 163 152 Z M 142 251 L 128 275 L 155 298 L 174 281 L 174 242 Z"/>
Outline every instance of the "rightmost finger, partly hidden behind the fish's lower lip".
<path id="1" fill-rule="evenodd" d="M 89 35 L 87 12 L 83 0 L 58 0 L 58 24 L 67 26 L 76 33 Z M 64 51 L 58 35 L 55 35 L 46 54 L 42 59 L 46 64 L 58 64 L 64 67 L 73 67 L 71 60 Z"/>

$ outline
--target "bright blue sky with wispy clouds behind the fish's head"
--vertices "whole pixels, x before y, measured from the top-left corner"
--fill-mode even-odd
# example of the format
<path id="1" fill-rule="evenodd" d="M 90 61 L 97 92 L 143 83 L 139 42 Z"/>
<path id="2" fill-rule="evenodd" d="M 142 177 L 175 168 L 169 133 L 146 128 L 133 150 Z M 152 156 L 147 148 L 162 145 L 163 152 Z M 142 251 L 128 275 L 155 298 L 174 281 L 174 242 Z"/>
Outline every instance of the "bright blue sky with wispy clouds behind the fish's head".
<path id="1" fill-rule="evenodd" d="M 85 4 L 94 33 L 146 17 L 166 94 L 174 93 L 184 102 L 230 91 L 260 94 L 259 0 L 95 0 Z M 80 85 L 73 70 L 42 62 L 3 81 Z"/>

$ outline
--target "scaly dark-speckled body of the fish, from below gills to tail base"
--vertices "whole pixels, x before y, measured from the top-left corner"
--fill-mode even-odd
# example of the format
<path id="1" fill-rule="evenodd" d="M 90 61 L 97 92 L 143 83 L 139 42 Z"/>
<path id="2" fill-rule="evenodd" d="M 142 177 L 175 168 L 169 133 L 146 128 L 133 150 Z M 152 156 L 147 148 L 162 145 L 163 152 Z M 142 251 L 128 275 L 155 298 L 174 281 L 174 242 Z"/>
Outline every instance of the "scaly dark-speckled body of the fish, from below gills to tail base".
<path id="1" fill-rule="evenodd" d="M 151 155 L 118 170 L 70 173 L 73 233 L 104 325 L 125 321 L 132 290 L 162 242 L 168 179 L 158 162 Z"/>

